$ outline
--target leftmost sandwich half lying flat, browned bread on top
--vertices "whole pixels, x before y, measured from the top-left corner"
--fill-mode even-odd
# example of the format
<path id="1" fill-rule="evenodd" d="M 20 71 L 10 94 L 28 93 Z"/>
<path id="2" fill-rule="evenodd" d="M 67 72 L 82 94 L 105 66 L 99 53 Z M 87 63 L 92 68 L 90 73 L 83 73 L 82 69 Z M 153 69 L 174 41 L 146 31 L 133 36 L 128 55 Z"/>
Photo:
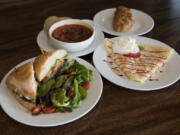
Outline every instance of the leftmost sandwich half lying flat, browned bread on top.
<path id="1" fill-rule="evenodd" d="M 7 87 L 12 90 L 16 99 L 26 107 L 32 110 L 36 104 L 37 85 L 33 63 L 28 62 L 19 68 L 15 68 L 6 79 Z"/>

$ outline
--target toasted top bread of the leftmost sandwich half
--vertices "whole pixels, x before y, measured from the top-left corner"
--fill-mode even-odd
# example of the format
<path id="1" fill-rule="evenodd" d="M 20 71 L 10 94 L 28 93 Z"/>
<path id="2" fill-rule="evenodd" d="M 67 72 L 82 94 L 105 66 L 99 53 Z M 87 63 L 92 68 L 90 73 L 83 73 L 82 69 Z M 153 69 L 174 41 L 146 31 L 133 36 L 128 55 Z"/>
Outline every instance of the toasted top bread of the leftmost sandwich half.
<path id="1" fill-rule="evenodd" d="M 12 91 L 33 99 L 36 97 L 36 89 L 34 89 L 33 81 L 33 63 L 28 62 L 14 69 L 14 71 L 9 74 L 6 79 L 6 85 Z"/>

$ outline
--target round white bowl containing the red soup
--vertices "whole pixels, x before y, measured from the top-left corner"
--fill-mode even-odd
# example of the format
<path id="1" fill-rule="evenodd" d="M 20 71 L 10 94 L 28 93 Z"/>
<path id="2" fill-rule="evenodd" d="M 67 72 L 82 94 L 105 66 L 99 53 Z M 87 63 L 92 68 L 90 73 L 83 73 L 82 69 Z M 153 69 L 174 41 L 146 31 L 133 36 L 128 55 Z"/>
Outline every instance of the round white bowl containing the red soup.
<path id="1" fill-rule="evenodd" d="M 69 42 L 63 42 L 60 40 L 55 39 L 54 37 L 52 37 L 52 32 L 63 25 L 66 24 L 80 24 L 80 25 L 84 25 L 88 28 L 90 28 L 93 33 L 91 35 L 91 37 L 89 37 L 88 39 L 81 41 L 81 42 L 75 42 L 75 43 L 69 43 Z M 93 24 L 91 24 L 88 21 L 83 21 L 83 20 L 78 20 L 78 19 L 68 19 L 68 20 L 63 20 L 63 21 L 59 21 L 56 22 L 55 24 L 53 24 L 50 29 L 49 29 L 49 40 L 50 43 L 55 47 L 55 48 L 60 48 L 60 49 L 65 49 L 68 52 L 77 52 L 77 51 L 81 51 L 87 47 L 89 47 L 92 43 L 92 41 L 94 40 L 94 36 L 95 36 L 95 30 L 94 30 L 94 26 Z"/>

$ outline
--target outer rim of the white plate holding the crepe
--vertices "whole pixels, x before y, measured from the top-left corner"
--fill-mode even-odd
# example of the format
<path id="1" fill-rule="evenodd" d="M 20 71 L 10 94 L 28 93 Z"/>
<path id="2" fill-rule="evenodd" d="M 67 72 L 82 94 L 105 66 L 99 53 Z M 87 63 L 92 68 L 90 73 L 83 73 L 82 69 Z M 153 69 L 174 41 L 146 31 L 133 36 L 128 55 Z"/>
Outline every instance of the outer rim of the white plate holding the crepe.
<path id="1" fill-rule="evenodd" d="M 126 36 L 119 36 L 119 37 L 114 37 L 114 38 L 110 38 L 110 39 L 118 39 L 118 38 L 121 38 L 121 37 L 126 37 Z M 160 42 L 160 43 L 162 43 L 163 46 L 165 45 L 166 47 L 172 48 L 172 47 L 169 46 L 168 44 L 166 44 L 166 43 L 164 43 L 164 42 L 161 42 L 161 41 L 159 41 L 159 40 L 153 39 L 153 38 L 148 38 L 148 37 L 144 37 L 144 36 L 134 36 L 134 37 L 135 37 L 135 38 L 136 38 L 136 37 L 137 37 L 137 38 L 144 38 L 144 39 L 148 39 L 148 40 L 154 40 L 155 42 Z M 98 48 L 103 48 L 103 43 L 101 43 L 101 45 L 99 45 L 99 46 L 96 48 L 96 50 L 94 51 L 94 53 L 93 53 L 93 64 L 94 64 L 94 66 L 96 67 L 96 69 L 99 71 L 99 73 L 100 73 L 104 78 L 106 78 L 106 79 L 107 79 L 108 81 L 110 81 L 111 83 L 116 84 L 117 86 L 124 87 L 124 88 L 128 88 L 128 89 L 130 89 L 130 90 L 136 90 L 136 91 L 144 91 L 144 92 L 146 92 L 146 91 L 160 90 L 160 89 L 169 87 L 169 86 L 175 84 L 175 83 L 180 79 L 180 74 L 179 74 L 179 77 L 177 77 L 177 78 L 176 78 L 174 81 L 172 81 L 171 83 L 169 83 L 169 84 L 167 84 L 167 85 L 165 85 L 165 86 L 156 87 L 156 88 L 153 88 L 153 89 L 152 89 L 152 88 L 151 88 L 151 89 L 148 89 L 148 88 L 138 89 L 138 88 L 132 88 L 132 87 L 129 87 L 129 86 L 126 86 L 126 85 L 120 85 L 119 83 L 117 83 L 117 82 L 115 82 L 115 81 L 112 81 L 112 80 L 110 80 L 107 76 L 105 76 L 104 73 L 102 73 L 102 71 L 99 70 L 99 68 L 98 68 L 97 65 L 95 64 L 95 63 L 96 63 L 96 62 L 95 62 L 95 53 L 96 53 L 96 51 L 98 50 Z M 105 49 L 105 48 L 104 48 L 104 49 Z M 174 48 L 172 48 L 172 49 L 173 49 L 175 55 L 177 55 L 177 59 L 180 59 L 180 55 L 176 52 L 176 50 L 175 50 Z M 103 50 L 103 51 L 104 51 L 104 50 Z M 105 52 L 105 53 L 107 53 L 107 52 Z M 108 67 L 109 67 L 109 66 L 108 66 Z M 114 75 L 116 76 L 115 73 L 114 73 Z M 130 81 L 131 81 L 131 80 L 130 80 Z M 132 82 L 132 83 L 133 83 L 133 82 Z"/>

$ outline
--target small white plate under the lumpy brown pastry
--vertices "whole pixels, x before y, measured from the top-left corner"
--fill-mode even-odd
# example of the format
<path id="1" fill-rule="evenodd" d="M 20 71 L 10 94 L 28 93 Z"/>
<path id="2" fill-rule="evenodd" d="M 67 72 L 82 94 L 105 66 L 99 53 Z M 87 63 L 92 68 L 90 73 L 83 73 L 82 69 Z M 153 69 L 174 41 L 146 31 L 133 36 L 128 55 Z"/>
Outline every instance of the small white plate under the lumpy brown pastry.
<path id="1" fill-rule="evenodd" d="M 112 20 L 113 20 L 115 8 L 105 9 L 98 12 L 94 16 L 94 23 L 102 31 L 115 36 L 143 35 L 151 31 L 152 28 L 154 27 L 154 21 L 152 17 L 142 11 L 136 9 L 131 9 L 131 10 L 135 19 L 135 24 L 128 32 L 114 31 L 112 27 Z"/>

